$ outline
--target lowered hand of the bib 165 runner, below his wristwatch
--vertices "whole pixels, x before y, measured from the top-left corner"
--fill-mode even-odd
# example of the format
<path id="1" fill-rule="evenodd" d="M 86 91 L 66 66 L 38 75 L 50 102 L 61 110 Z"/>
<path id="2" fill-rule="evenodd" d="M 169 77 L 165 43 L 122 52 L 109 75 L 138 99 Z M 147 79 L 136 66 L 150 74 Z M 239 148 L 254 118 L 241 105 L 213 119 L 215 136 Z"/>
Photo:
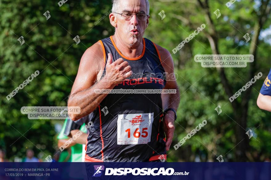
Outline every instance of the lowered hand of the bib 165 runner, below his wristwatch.
<path id="1" fill-rule="evenodd" d="M 163 118 L 163 128 L 166 133 L 166 150 L 168 151 L 172 143 L 174 134 L 174 118 L 175 114 L 172 111 L 168 111 Z"/>

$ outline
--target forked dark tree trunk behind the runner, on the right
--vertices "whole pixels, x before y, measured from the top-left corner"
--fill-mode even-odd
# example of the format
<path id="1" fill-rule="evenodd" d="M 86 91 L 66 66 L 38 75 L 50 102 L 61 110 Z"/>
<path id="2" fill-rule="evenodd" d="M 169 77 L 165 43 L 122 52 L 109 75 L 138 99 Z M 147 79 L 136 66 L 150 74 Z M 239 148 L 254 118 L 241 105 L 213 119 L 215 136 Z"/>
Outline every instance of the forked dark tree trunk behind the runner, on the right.
<path id="1" fill-rule="evenodd" d="M 218 48 L 218 36 L 215 29 L 215 26 L 213 24 L 210 10 L 209 10 L 209 4 L 208 0 L 201 1 L 197 0 L 199 5 L 201 6 L 202 10 L 205 13 L 205 19 L 210 25 L 210 30 L 208 33 L 206 33 L 206 36 L 208 38 L 208 41 L 210 43 L 212 53 L 213 54 L 219 54 L 219 48 Z M 261 8 L 260 8 L 260 15 L 258 15 L 258 22 L 256 22 L 254 26 L 254 35 L 252 37 L 252 42 L 250 44 L 249 54 L 252 54 L 254 56 L 253 63 L 250 63 L 250 69 L 249 69 L 249 79 L 253 78 L 256 72 L 256 58 L 257 58 L 257 45 L 259 43 L 259 34 L 262 29 L 262 26 L 266 20 L 266 18 L 270 14 L 271 5 L 269 4 L 270 0 L 267 0 L 266 2 L 261 0 Z M 231 97 L 233 95 L 232 86 L 229 84 L 228 79 L 225 75 L 223 68 L 216 68 L 221 79 L 221 83 L 223 87 L 225 88 L 226 94 Z M 249 148 L 249 138 L 245 134 L 246 128 L 247 128 L 247 116 L 248 116 L 248 108 L 249 108 L 249 99 L 251 95 L 252 87 L 248 88 L 243 96 L 241 103 L 238 103 L 237 101 L 233 101 L 231 104 L 233 106 L 233 114 L 234 114 L 234 120 L 237 122 L 236 128 L 235 128 L 235 136 L 236 136 L 236 161 L 247 161 L 246 154 L 248 153 Z"/>

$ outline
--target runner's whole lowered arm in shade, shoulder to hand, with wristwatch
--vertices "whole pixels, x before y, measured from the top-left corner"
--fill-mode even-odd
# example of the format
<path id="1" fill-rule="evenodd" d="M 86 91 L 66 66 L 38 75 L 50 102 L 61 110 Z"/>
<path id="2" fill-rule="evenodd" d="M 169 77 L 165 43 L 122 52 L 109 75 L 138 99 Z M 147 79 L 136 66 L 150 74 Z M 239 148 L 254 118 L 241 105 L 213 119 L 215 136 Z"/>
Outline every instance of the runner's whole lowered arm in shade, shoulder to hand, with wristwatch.
<path id="1" fill-rule="evenodd" d="M 176 90 L 175 94 L 162 94 L 162 101 L 163 101 L 163 109 L 172 108 L 177 111 L 179 103 L 180 103 L 180 92 L 176 82 L 176 77 L 174 74 L 174 63 L 171 54 L 168 50 L 158 46 L 157 49 L 160 53 L 161 57 L 161 64 L 164 67 L 166 73 L 166 85 L 164 89 L 172 89 Z M 169 110 L 164 118 L 163 118 L 163 128 L 166 133 L 166 150 L 168 151 L 170 145 L 172 143 L 173 134 L 174 134 L 174 120 L 175 120 L 175 113 Z"/>

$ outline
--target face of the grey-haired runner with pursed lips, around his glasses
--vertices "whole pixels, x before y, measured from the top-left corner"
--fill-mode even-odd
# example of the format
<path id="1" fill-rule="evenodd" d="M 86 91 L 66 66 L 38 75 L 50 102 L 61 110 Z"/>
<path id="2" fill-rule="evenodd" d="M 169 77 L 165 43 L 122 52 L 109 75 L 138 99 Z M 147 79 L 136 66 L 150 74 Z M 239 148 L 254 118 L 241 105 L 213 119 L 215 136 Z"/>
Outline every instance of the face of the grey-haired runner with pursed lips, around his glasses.
<path id="1" fill-rule="evenodd" d="M 120 0 L 119 10 L 116 13 L 145 13 L 147 14 L 145 0 Z M 139 20 L 133 15 L 131 20 L 126 20 L 120 14 L 114 13 L 116 20 L 116 32 L 125 44 L 136 45 L 143 38 L 145 29 L 149 24 L 149 16 L 146 20 Z"/>

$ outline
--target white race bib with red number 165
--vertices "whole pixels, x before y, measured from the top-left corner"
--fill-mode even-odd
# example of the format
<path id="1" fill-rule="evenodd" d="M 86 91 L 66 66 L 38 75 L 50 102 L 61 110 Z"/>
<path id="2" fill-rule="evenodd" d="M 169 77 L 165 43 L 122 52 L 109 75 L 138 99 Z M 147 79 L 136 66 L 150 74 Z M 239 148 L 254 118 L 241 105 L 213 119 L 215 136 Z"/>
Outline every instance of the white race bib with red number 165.
<path id="1" fill-rule="evenodd" d="M 118 144 L 147 144 L 151 141 L 153 113 L 119 114 Z"/>

